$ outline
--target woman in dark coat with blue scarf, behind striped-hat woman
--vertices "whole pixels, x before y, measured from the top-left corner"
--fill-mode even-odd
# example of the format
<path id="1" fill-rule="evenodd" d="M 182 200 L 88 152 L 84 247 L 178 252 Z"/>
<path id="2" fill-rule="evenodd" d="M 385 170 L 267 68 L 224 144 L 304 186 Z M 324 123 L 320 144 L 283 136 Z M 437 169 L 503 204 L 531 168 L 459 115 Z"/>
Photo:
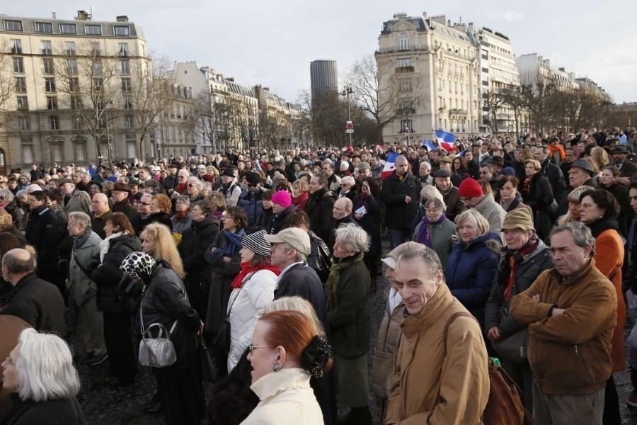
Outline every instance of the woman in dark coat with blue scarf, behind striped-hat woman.
<path id="1" fill-rule="evenodd" d="M 217 234 L 210 249 L 206 251 L 206 261 L 210 264 L 211 283 L 208 297 L 206 331 L 214 338 L 219 336 L 226 319 L 228 300 L 232 292 L 232 280 L 241 271 L 241 240 L 246 234 L 248 216 L 241 207 L 230 207 L 224 215 L 224 229 Z M 217 373 L 228 374 L 228 348 L 213 345 Z"/>

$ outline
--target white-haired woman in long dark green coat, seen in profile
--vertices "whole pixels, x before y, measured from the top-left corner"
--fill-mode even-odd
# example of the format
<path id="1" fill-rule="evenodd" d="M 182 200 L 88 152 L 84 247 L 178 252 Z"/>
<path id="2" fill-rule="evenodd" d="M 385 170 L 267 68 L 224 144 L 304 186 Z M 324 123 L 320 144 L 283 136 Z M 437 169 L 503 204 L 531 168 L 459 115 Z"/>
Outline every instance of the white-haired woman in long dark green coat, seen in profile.
<path id="1" fill-rule="evenodd" d="M 367 351 L 371 279 L 363 261 L 369 235 L 355 224 L 336 229 L 334 263 L 326 282 L 336 379 L 340 403 L 351 407 L 343 423 L 371 424 Z M 347 390 L 344 390 L 347 389 Z M 340 423 L 340 420 L 339 420 Z"/>

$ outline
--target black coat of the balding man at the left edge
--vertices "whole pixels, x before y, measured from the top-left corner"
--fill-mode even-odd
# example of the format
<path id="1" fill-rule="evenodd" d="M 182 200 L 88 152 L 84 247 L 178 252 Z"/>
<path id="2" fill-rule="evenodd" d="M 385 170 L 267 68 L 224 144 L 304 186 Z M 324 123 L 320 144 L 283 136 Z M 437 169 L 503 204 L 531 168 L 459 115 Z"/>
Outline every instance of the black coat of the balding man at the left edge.
<path id="1" fill-rule="evenodd" d="M 62 294 L 35 273 L 24 276 L 11 289 L 0 314 L 20 317 L 37 331 L 67 334 Z"/>

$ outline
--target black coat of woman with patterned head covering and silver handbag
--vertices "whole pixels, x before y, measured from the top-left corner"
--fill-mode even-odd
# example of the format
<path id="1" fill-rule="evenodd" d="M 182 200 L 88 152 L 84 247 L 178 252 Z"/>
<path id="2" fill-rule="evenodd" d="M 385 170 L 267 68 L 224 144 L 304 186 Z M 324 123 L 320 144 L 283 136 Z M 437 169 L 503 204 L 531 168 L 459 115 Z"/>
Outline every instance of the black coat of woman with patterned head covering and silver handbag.
<path id="1" fill-rule="evenodd" d="M 197 331 L 200 326 L 199 314 L 185 298 L 183 283 L 167 263 L 160 262 L 150 276 L 142 298 L 144 330 L 153 323 L 160 323 L 170 331 L 171 341 L 177 353 L 177 362 L 162 370 L 182 368 L 195 361 L 197 351 Z M 140 334 L 142 333 L 140 329 Z M 149 332 L 156 336 L 156 329 Z"/>

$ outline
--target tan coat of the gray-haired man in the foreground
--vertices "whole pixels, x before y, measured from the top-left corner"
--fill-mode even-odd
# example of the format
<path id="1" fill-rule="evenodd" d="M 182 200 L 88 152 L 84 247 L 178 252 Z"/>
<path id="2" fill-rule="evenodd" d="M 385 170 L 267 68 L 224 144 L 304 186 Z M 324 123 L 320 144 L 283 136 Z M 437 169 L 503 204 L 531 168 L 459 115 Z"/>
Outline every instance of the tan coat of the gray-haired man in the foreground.
<path id="1" fill-rule="evenodd" d="M 386 424 L 482 424 L 489 397 L 486 346 L 478 322 L 457 317 L 444 355 L 444 327 L 456 312 L 467 310 L 443 284 L 423 311 L 401 325 Z"/>

